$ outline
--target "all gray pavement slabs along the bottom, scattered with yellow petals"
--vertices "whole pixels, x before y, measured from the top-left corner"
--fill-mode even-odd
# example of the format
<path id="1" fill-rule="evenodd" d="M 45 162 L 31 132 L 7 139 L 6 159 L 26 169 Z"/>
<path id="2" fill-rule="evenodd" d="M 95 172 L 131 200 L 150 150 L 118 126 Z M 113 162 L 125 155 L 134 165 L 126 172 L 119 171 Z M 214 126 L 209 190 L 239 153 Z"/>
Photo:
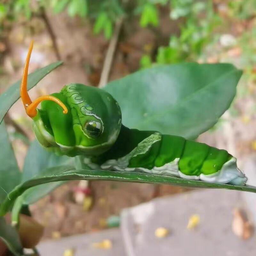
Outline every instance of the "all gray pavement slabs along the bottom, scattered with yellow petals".
<path id="1" fill-rule="evenodd" d="M 88 256 L 251 256 L 256 250 L 256 235 L 245 194 L 204 189 L 157 198 L 123 210 L 119 229 L 48 240 L 37 248 L 42 256 L 53 252 L 60 256 L 68 251 L 76 256 L 84 252 Z M 238 209 L 249 216 L 247 230 L 237 215 Z M 198 221 L 189 226 L 192 216 L 197 216 Z"/>

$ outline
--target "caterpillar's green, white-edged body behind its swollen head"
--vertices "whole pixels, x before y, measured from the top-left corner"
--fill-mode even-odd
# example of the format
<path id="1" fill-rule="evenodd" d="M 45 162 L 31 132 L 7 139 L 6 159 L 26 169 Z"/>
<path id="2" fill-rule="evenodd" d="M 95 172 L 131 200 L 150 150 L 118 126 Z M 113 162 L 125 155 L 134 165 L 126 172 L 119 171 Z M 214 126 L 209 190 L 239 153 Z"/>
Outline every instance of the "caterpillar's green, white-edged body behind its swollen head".
<path id="1" fill-rule="evenodd" d="M 124 138 L 129 142 L 133 141 L 131 144 L 134 148 L 124 143 Z M 135 138 L 137 140 L 133 140 Z M 111 158 L 117 148 L 119 157 Z M 124 126 L 110 151 L 100 158 L 92 158 L 92 163 L 93 169 L 147 172 L 211 183 L 245 185 L 247 181 L 244 173 L 237 168 L 236 158 L 226 150 L 179 136 L 128 129 Z"/>

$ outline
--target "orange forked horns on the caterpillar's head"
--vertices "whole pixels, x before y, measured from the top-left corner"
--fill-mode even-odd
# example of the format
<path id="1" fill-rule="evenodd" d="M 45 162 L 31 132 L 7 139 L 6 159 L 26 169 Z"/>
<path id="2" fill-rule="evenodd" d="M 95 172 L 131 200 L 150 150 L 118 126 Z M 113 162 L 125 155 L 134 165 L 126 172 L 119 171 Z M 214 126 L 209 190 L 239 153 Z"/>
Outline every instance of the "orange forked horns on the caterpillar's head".
<path id="1" fill-rule="evenodd" d="M 68 113 L 67 107 L 58 98 L 56 98 L 52 95 L 41 96 L 41 97 L 37 98 L 36 100 L 34 100 L 33 102 L 31 101 L 31 99 L 28 95 L 28 90 L 27 90 L 28 65 L 29 65 L 31 52 L 33 49 L 33 43 L 34 43 L 34 41 L 31 41 L 29 49 L 28 49 L 28 55 L 27 55 L 27 59 L 25 62 L 23 76 L 22 76 L 21 84 L 20 84 L 20 97 L 23 102 L 26 113 L 29 117 L 35 117 L 37 114 L 36 107 L 38 106 L 38 104 L 43 100 L 52 100 L 52 101 L 56 102 L 57 104 L 59 104 L 61 108 L 63 108 L 64 114 L 67 114 Z"/>

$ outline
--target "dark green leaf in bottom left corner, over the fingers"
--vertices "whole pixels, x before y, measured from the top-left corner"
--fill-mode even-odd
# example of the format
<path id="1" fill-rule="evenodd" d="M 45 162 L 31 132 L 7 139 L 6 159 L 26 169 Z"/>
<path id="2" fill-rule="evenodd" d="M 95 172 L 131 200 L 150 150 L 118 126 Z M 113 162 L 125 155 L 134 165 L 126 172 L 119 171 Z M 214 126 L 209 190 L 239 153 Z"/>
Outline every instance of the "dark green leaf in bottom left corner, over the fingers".
<path id="1" fill-rule="evenodd" d="M 0 217 L 0 237 L 13 255 L 24 255 L 18 232 L 11 225 L 7 224 L 3 217 Z"/>

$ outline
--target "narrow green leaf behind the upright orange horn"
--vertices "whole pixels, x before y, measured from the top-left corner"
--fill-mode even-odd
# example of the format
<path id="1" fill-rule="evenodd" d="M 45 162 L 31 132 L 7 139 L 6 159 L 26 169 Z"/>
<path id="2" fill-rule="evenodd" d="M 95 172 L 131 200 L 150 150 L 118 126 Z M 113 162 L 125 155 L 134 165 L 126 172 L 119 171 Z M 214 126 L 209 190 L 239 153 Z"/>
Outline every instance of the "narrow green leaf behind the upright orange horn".
<path id="1" fill-rule="evenodd" d="M 40 80 L 49 74 L 53 69 L 59 67 L 62 61 L 57 61 L 44 68 L 37 69 L 28 76 L 28 90 L 33 88 Z M 20 98 L 20 80 L 12 84 L 5 92 L 0 95 L 0 123 L 7 111 Z"/>

